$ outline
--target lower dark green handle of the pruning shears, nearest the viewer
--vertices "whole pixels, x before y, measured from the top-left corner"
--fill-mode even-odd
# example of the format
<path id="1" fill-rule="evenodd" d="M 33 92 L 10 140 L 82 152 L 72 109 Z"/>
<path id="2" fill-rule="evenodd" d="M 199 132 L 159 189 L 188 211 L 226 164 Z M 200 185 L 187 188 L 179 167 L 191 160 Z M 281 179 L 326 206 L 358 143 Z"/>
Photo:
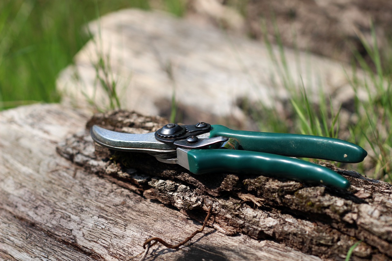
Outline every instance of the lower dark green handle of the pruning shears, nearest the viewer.
<path id="1" fill-rule="evenodd" d="M 203 149 L 188 152 L 189 170 L 194 174 L 210 172 L 257 173 L 302 182 L 316 182 L 348 188 L 350 182 L 326 167 L 301 159 L 247 150 Z"/>

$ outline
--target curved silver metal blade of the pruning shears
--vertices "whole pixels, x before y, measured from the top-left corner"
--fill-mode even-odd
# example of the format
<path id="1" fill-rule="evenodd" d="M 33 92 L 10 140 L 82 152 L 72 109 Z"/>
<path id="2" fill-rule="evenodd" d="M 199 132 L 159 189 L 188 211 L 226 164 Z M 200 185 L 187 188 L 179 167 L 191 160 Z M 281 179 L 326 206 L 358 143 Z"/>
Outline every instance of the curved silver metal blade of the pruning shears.
<path id="1" fill-rule="evenodd" d="M 94 125 L 90 131 L 93 140 L 113 150 L 147 152 L 149 154 L 175 154 L 174 146 L 157 141 L 154 132 L 145 134 L 122 133 Z"/>

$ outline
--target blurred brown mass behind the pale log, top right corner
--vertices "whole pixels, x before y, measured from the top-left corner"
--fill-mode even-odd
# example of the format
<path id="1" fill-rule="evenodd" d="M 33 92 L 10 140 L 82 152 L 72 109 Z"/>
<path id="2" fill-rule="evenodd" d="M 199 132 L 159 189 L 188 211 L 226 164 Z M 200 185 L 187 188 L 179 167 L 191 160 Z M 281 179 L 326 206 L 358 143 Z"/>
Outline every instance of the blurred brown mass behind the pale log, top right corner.
<path id="1" fill-rule="evenodd" d="M 255 38 L 263 41 L 264 20 L 272 42 L 278 28 L 283 45 L 345 62 L 353 49 L 370 62 L 359 36 L 373 44 L 371 21 L 381 52 L 392 33 L 390 0 L 250 0 L 246 9 L 245 24 Z"/>

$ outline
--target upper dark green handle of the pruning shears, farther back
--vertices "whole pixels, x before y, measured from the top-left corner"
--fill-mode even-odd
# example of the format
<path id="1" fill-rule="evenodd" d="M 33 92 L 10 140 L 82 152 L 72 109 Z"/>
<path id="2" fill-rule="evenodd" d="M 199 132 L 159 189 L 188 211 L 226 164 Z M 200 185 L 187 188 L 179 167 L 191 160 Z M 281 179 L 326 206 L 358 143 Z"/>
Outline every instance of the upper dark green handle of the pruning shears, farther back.
<path id="1" fill-rule="evenodd" d="M 222 125 L 212 125 L 210 138 L 216 136 L 237 139 L 243 150 L 288 157 L 357 163 L 367 155 L 366 150 L 358 145 L 320 136 L 232 130 Z"/>

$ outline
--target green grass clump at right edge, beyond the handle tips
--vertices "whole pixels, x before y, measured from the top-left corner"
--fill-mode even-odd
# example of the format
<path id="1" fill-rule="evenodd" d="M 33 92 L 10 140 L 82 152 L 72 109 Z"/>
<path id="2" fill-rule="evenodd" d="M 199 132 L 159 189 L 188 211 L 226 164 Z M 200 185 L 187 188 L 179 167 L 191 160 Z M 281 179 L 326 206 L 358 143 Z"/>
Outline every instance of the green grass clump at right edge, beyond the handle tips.
<path id="1" fill-rule="evenodd" d="M 367 72 L 369 77 L 359 78 L 357 74 L 351 78 L 351 85 L 356 91 L 355 112 L 358 114 L 358 121 L 350 128 L 352 136 L 357 136 L 358 143 L 371 149 L 372 159 L 371 171 L 375 178 L 392 181 L 392 89 L 391 72 L 392 65 L 387 63 L 390 57 L 381 59 L 381 54 L 377 48 L 375 29 L 372 27 L 372 45 L 365 38 L 358 34 L 363 46 L 369 54 L 372 63 L 368 64 L 358 53 L 356 60 L 359 67 Z M 373 47 L 372 47 L 373 46 Z M 354 69 L 356 66 L 353 66 Z M 375 69 L 372 69 L 375 68 Z M 355 70 L 354 70 L 355 71 Z M 358 92 L 361 87 L 365 87 L 368 100 L 360 101 Z"/>

